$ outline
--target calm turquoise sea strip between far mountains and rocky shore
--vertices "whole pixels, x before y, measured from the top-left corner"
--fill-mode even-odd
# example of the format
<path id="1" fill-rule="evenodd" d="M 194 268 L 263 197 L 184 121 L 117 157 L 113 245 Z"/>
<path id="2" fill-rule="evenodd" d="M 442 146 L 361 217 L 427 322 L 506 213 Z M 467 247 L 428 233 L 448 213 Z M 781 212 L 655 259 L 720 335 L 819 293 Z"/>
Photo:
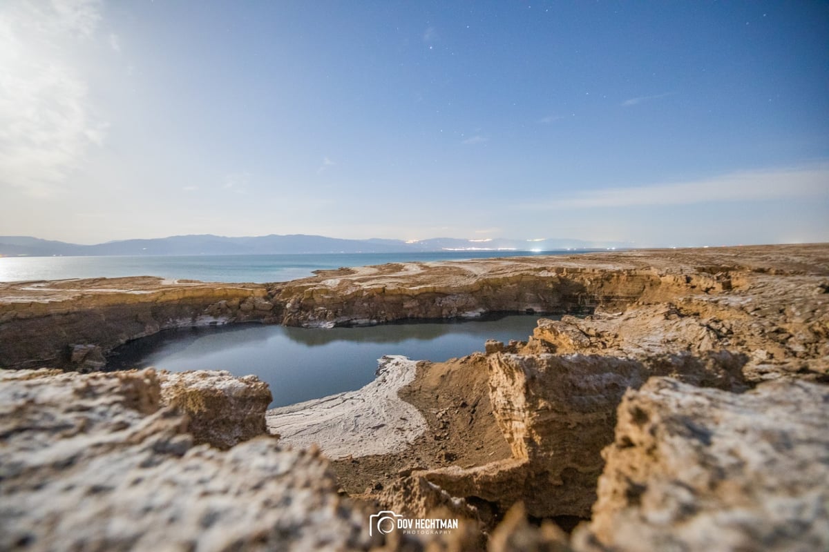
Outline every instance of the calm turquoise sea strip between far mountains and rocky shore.
<path id="1" fill-rule="evenodd" d="M 119 276 L 161 276 L 226 282 L 289 281 L 313 271 L 386 262 L 452 261 L 488 257 L 561 255 L 556 252 L 406 252 L 299 255 L 205 255 L 187 257 L 0 257 L 0 281 L 62 280 Z"/>

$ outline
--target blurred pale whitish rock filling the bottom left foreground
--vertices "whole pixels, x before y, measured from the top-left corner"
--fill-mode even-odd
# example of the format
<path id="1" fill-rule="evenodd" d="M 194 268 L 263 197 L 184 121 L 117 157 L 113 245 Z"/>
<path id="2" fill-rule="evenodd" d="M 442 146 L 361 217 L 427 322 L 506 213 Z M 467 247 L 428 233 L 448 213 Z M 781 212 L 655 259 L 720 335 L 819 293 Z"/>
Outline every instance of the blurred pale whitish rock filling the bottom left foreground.
<path id="1" fill-rule="evenodd" d="M 371 548 L 318 453 L 196 445 L 171 376 L 0 372 L 0 550 Z"/>

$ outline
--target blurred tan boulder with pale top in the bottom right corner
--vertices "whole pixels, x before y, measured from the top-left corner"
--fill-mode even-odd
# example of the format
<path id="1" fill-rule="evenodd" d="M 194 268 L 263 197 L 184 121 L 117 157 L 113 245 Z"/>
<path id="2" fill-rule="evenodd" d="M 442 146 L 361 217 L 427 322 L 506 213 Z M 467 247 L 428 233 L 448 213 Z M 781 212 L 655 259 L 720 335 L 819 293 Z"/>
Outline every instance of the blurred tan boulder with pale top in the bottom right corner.
<path id="1" fill-rule="evenodd" d="M 618 407 L 577 550 L 829 550 L 829 388 L 653 378 Z"/>

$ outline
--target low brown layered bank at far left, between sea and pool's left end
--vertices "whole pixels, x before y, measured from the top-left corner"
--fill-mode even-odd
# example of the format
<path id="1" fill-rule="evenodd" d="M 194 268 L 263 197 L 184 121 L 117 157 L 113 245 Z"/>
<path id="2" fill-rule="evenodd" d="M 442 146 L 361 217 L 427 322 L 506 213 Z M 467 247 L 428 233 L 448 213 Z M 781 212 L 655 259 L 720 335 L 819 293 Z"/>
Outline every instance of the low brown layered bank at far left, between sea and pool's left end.
<path id="1" fill-rule="evenodd" d="M 162 329 L 275 321 L 267 295 L 148 276 L 0 284 L 0 367 L 94 371 L 113 348 Z"/>

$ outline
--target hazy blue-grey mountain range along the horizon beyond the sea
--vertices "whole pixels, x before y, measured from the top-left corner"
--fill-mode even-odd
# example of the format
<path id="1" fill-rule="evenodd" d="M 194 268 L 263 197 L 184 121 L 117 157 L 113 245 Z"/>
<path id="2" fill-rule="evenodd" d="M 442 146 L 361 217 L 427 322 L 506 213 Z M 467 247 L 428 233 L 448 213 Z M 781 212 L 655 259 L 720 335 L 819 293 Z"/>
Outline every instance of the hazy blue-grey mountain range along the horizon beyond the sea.
<path id="1" fill-rule="evenodd" d="M 79 245 L 28 236 L 0 236 L 0 256 L 53 257 L 105 255 L 269 255 L 275 253 L 392 253 L 435 251 L 560 251 L 631 247 L 624 242 L 577 239 L 434 238 L 419 241 L 339 239 L 305 234 L 225 238 L 211 234 L 130 239 Z"/>

